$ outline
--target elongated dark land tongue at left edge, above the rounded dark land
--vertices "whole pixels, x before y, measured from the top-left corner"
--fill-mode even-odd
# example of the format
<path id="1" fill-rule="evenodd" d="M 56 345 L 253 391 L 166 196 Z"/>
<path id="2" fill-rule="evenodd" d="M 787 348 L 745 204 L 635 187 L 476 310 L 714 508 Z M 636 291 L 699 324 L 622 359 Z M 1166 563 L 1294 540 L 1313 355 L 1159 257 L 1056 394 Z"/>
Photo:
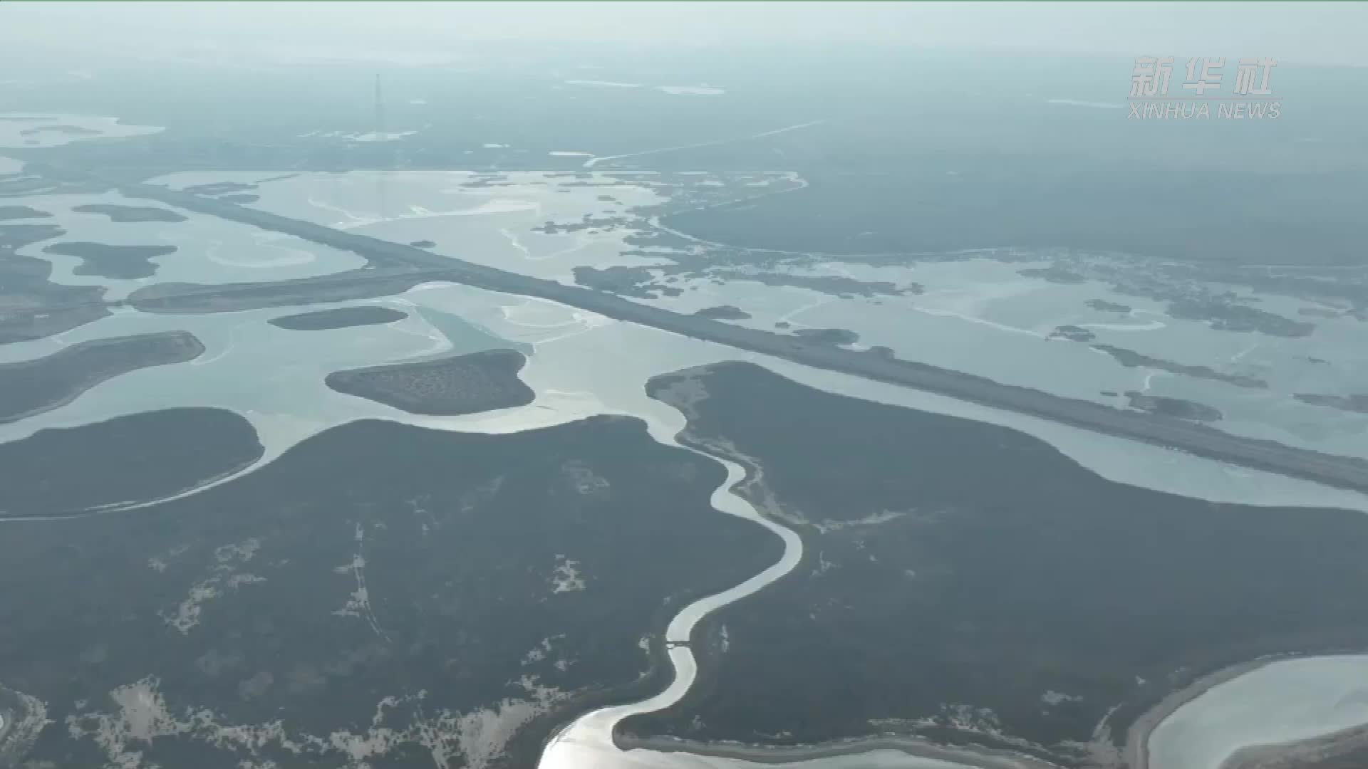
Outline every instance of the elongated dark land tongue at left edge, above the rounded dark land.
<path id="1" fill-rule="evenodd" d="M 51 356 L 0 364 L 0 424 L 70 404 L 120 374 L 194 360 L 204 345 L 187 331 L 93 339 Z"/>

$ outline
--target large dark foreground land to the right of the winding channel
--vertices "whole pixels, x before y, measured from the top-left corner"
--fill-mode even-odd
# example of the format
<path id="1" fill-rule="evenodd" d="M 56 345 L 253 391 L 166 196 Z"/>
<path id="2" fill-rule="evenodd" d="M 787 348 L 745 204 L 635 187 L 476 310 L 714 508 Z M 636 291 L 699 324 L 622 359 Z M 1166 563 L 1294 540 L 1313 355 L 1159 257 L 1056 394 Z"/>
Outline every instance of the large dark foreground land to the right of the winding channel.
<path id="1" fill-rule="evenodd" d="M 748 467 L 739 490 L 787 519 L 804 553 L 699 625 L 699 684 L 629 733 L 982 742 L 956 731 L 969 717 L 1081 765 L 1064 740 L 1088 742 L 1116 705 L 1123 735 L 1202 672 L 1368 644 L 1361 512 L 1114 483 L 1012 430 L 750 364 L 648 391 L 684 410 L 688 443 Z"/>

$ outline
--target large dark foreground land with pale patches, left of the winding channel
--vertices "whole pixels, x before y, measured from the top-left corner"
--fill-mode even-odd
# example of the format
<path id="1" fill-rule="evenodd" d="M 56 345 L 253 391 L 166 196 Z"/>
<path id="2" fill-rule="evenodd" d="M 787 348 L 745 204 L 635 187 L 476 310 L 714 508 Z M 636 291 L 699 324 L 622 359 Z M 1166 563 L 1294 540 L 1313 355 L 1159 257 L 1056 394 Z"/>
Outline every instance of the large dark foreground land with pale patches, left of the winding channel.
<path id="1" fill-rule="evenodd" d="M 68 454 L 62 482 L 104 484 L 105 462 Z M 512 435 L 365 420 L 150 509 L 7 524 L 0 580 L 27 587 L 0 605 L 0 680 L 53 721 L 26 761 L 111 764 L 93 731 L 142 681 L 187 724 L 120 743 L 148 765 L 337 768 L 349 740 L 330 735 L 387 728 L 371 765 L 431 769 L 428 739 L 450 769 L 477 742 L 480 766 L 532 766 L 584 709 L 663 688 L 654 639 L 680 606 L 778 558 L 774 535 L 713 509 L 724 479 L 633 419 Z"/>

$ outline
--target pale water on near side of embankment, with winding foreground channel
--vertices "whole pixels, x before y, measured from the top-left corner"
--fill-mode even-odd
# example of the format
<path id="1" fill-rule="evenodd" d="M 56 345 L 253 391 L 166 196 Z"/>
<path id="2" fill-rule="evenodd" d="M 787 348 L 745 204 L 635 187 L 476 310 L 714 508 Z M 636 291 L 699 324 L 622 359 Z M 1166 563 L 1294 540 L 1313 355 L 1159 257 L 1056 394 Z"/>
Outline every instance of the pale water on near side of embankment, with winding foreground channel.
<path id="1" fill-rule="evenodd" d="M 120 312 L 62 337 L 7 345 L 0 348 L 0 363 L 41 357 L 83 339 L 163 330 L 190 331 L 207 349 L 196 361 L 118 376 L 64 406 L 4 426 L 0 428 L 0 441 L 19 439 L 44 427 L 70 427 L 126 413 L 198 405 L 231 409 L 246 416 L 257 428 L 265 453 L 260 462 L 244 472 L 263 467 L 311 435 L 357 419 L 389 419 L 434 430 L 506 434 L 594 415 L 627 415 L 646 421 L 654 439 L 680 445 L 676 436 L 685 427 L 684 415 L 648 398 L 646 382 L 651 376 L 681 368 L 743 359 L 826 391 L 1021 430 L 1118 482 L 1212 501 L 1368 509 L 1358 494 L 1238 469 L 1156 446 L 1083 432 L 892 384 L 737 353 L 718 345 L 611 322 L 549 301 L 436 283 L 369 304 L 404 309 L 409 312 L 409 317 L 389 326 L 297 333 L 267 323 L 269 317 L 297 312 L 293 308 L 193 316 Z M 461 417 L 423 417 L 342 395 L 323 384 L 326 374 L 338 368 L 509 345 L 529 353 L 521 378 L 536 393 L 536 400 L 527 406 Z M 726 513 L 765 525 L 784 539 L 785 550 L 778 562 L 761 573 L 687 606 L 669 623 L 665 634 L 668 642 L 687 642 L 702 617 L 780 579 L 798 564 L 802 554 L 796 534 L 763 519 L 754 506 L 732 491 L 744 476 L 741 464 L 728 457 L 713 458 L 722 461 L 728 469 L 726 482 L 713 493 L 713 504 Z M 93 513 L 116 514 L 120 510 L 131 512 L 131 508 L 116 506 Z M 34 520 L 11 523 L 42 525 Z M 576 718 L 549 743 L 540 765 L 549 769 L 739 766 L 752 761 L 774 764 L 767 757 L 780 757 L 789 764 L 824 769 L 856 765 L 918 769 L 1005 766 L 1003 761 L 1007 758 L 1000 755 L 912 755 L 907 750 L 915 746 L 904 744 L 895 750 L 882 744 L 888 740 L 844 747 L 818 746 L 806 758 L 795 755 L 795 751 L 743 750 L 744 746 L 721 746 L 718 751 L 746 753 L 746 758 L 700 755 L 687 750 L 618 748 L 613 740 L 613 727 L 618 721 L 632 714 L 669 707 L 692 687 L 698 666 L 687 646 L 669 649 L 669 660 L 674 676 L 662 692 Z M 1326 696 L 1332 694 L 1327 690 Z M 1224 707 L 1215 701 L 1193 701 L 1190 707 L 1197 710 L 1186 710 L 1183 718 L 1208 705 L 1218 710 Z M 1163 732 L 1156 732 L 1156 740 L 1170 739 L 1161 735 Z M 1178 735 L 1172 740 L 1163 746 L 1155 743 L 1156 758 L 1174 751 L 1186 754 L 1183 738 Z M 851 753 L 833 755 L 833 751 L 843 748 Z M 1198 746 L 1193 746 L 1192 750 L 1197 748 Z M 1211 769 L 1201 762 L 1185 766 Z"/>

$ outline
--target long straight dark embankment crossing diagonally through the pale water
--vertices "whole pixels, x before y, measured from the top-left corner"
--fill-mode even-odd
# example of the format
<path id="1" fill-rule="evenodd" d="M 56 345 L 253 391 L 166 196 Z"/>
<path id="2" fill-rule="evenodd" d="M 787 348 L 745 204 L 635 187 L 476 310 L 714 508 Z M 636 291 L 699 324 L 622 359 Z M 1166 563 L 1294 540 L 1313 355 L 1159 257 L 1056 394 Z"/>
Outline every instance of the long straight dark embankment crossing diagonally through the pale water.
<path id="1" fill-rule="evenodd" d="M 118 186 L 122 193 L 130 197 L 157 200 L 198 213 L 242 222 L 264 230 L 285 233 L 306 241 L 350 250 L 367 257 L 371 260 L 371 264 L 378 267 L 423 271 L 428 279 L 434 281 L 453 281 L 492 291 L 544 298 L 628 323 L 650 326 L 662 331 L 774 356 L 815 368 L 926 390 L 1082 430 L 1157 443 L 1201 457 L 1368 493 L 1368 462 L 1353 457 L 1295 449 L 1272 441 L 1241 438 L 1176 419 L 1123 412 L 1101 404 L 1063 398 L 1012 384 L 1001 384 L 982 376 L 960 374 L 921 363 L 822 346 L 782 334 L 681 315 L 628 301 L 603 291 L 564 286 L 553 281 L 517 275 L 419 248 L 371 238 L 354 231 L 335 230 L 312 222 L 290 219 L 161 186 L 141 183 L 123 183 Z M 326 278 L 321 278 L 319 283 L 326 283 Z M 297 287 L 300 293 L 298 300 L 290 304 L 306 304 L 309 301 L 308 287 L 313 283 L 311 281 L 291 281 L 289 283 Z M 279 301 L 279 286 L 274 283 L 261 283 L 260 287 L 239 285 L 231 290 L 245 300 L 250 300 L 250 294 L 260 290 L 263 294 L 275 296 L 276 301 Z M 134 298 L 134 305 L 148 312 L 196 312 L 205 309 L 204 305 L 212 293 L 212 289 L 202 287 L 185 294 L 159 296 L 155 300 L 149 298 L 146 302 L 138 302 Z M 326 301 L 326 298 L 317 301 Z"/>

